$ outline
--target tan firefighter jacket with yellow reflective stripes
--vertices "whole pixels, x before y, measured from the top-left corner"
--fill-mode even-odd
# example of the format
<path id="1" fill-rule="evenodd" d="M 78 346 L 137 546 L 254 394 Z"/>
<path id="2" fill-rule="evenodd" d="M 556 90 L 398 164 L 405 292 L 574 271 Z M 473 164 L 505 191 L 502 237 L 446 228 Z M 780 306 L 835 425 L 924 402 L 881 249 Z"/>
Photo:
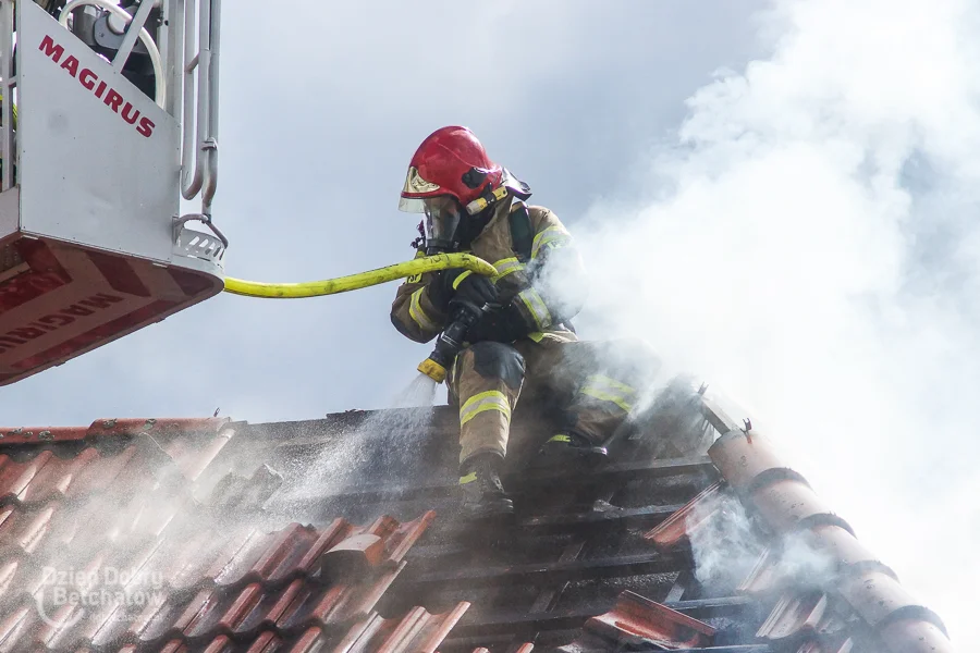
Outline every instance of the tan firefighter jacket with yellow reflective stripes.
<path id="1" fill-rule="evenodd" d="M 564 322 L 581 309 L 587 280 L 572 235 L 551 210 L 516 199 L 501 202 L 468 251 L 497 269 L 501 301 L 518 308 L 532 329 L 529 338 L 561 332 L 574 340 Z M 395 329 L 418 343 L 434 338 L 449 319 L 429 298 L 433 274 L 407 279 L 391 307 Z"/>

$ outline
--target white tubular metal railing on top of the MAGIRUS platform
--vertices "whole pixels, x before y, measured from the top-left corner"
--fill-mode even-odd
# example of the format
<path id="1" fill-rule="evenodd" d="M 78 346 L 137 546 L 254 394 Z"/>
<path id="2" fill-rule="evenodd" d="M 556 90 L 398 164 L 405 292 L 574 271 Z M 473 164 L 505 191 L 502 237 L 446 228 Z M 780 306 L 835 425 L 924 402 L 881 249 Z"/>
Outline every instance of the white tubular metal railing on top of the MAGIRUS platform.
<path id="1" fill-rule="evenodd" d="M 218 187 L 221 0 L 143 0 L 133 15 L 115 0 L 69 0 L 61 10 L 59 23 L 69 27 L 72 16 L 85 7 L 108 11 L 125 25 L 111 62 L 117 71 L 123 70 L 137 39 L 143 44 L 154 66 L 154 99 L 181 121 L 181 196 L 189 200 L 200 194 L 200 212 L 174 217 L 175 242 L 184 223 L 200 220 L 226 245 L 224 236 L 211 224 L 211 202 Z M 163 12 L 156 39 L 146 28 L 155 7 L 162 8 Z M 3 163 L 0 190 L 16 184 L 14 165 L 8 164 L 15 162 L 16 157 L 14 11 L 14 0 L 0 0 L 0 161 Z"/>

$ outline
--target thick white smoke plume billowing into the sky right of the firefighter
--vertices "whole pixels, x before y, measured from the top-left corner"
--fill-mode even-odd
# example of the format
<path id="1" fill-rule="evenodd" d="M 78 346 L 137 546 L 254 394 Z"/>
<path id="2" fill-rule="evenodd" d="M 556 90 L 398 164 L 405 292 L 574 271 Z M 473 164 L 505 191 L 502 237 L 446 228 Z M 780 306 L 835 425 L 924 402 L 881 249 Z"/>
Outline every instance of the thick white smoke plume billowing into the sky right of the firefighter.
<path id="1" fill-rule="evenodd" d="M 644 337 L 734 396 L 961 640 L 980 584 L 980 8 L 758 17 L 771 56 L 688 100 L 641 163 L 647 200 L 577 227 L 583 333 Z"/>

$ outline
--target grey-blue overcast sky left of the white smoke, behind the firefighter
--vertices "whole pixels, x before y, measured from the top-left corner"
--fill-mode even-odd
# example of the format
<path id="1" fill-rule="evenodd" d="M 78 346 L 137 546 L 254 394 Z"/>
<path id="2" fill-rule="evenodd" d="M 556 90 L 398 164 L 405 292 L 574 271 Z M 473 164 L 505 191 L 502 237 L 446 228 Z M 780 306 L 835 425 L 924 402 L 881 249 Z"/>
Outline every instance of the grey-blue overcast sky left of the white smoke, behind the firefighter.
<path id="1" fill-rule="evenodd" d="M 677 126 L 684 99 L 759 53 L 761 3 L 684 4 L 340 2 L 328 13 L 301 0 L 290 20 L 258 2 L 225 8 L 215 219 L 231 239 L 226 273 L 311 281 L 411 259 L 418 218 L 397 211 L 399 193 L 415 148 L 445 124 L 475 130 L 572 227 L 597 197 L 642 190 L 637 159 Z M 4 389 L 5 421 L 383 407 L 430 349 L 391 325 L 395 287 L 219 296 Z"/>

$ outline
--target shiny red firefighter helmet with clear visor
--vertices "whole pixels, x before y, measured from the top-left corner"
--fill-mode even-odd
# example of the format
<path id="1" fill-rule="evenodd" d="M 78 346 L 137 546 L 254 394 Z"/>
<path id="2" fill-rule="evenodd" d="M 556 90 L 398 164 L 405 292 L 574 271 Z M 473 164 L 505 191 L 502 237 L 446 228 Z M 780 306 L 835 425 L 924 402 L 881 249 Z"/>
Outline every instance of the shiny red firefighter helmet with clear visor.
<path id="1" fill-rule="evenodd" d="M 452 197 L 467 207 L 480 196 L 500 188 L 504 170 L 466 127 L 442 127 L 430 134 L 412 157 L 399 209 L 426 212 L 428 198 Z"/>

